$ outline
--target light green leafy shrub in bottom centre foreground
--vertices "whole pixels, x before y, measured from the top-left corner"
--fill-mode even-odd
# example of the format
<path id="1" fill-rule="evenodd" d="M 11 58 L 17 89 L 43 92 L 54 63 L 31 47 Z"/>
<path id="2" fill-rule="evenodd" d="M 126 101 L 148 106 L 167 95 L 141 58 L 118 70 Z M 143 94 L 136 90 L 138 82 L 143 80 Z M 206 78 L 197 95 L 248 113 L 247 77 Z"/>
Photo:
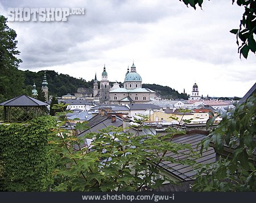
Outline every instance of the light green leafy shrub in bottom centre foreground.
<path id="1" fill-rule="evenodd" d="M 59 104 L 56 109 L 64 109 Z M 65 114 L 57 113 L 63 123 L 67 123 Z M 142 120 L 138 120 L 139 123 Z M 179 144 L 166 141 L 180 131 L 159 138 L 158 135 L 138 135 L 125 133 L 121 128 L 108 127 L 99 133 L 86 134 L 77 137 L 75 130 L 82 130 L 86 123 L 77 123 L 73 132 L 56 129 L 53 132 L 51 144 L 52 153 L 60 155 L 60 164 L 55 171 L 56 187 L 58 191 L 138 191 L 143 186 L 158 187 L 164 180 L 172 182 L 167 176 L 156 180 L 161 161 L 192 165 L 190 159 L 179 160 L 179 156 L 189 154 L 193 159 L 193 150 L 189 144 Z M 141 126 L 137 126 L 141 127 Z M 79 148 L 84 139 L 92 142 L 84 148 Z M 87 139 L 87 141 L 89 141 Z M 74 150 L 74 146 L 78 147 Z M 183 152 L 185 151 L 185 152 Z M 165 157 L 173 153 L 177 159 Z M 152 181 L 154 179 L 154 181 Z"/>

